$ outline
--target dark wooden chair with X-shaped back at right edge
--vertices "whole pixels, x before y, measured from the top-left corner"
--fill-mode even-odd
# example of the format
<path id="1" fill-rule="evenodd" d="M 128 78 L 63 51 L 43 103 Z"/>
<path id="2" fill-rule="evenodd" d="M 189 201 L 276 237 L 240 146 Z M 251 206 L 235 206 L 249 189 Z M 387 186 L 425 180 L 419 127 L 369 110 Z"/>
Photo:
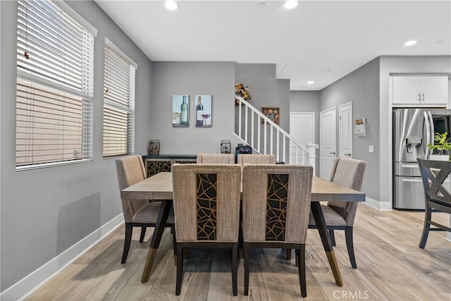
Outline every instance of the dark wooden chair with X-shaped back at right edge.
<path id="1" fill-rule="evenodd" d="M 416 159 L 421 172 L 424 188 L 424 226 L 419 247 L 424 249 L 429 231 L 448 231 L 451 227 L 432 220 L 432 213 L 446 212 L 451 214 L 450 182 L 445 180 L 451 173 L 451 161 L 434 161 Z M 437 228 L 431 228 L 435 226 Z"/>

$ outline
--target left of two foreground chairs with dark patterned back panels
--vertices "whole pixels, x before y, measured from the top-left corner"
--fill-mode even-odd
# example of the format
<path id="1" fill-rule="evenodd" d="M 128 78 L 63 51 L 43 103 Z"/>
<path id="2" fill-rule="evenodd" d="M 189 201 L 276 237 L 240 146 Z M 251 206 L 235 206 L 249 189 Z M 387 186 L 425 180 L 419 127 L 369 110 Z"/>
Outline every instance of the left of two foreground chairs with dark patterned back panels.
<path id="1" fill-rule="evenodd" d="M 183 252 L 195 247 L 232 249 L 232 288 L 237 295 L 240 173 L 237 164 L 173 164 L 175 295 L 182 287 Z"/>

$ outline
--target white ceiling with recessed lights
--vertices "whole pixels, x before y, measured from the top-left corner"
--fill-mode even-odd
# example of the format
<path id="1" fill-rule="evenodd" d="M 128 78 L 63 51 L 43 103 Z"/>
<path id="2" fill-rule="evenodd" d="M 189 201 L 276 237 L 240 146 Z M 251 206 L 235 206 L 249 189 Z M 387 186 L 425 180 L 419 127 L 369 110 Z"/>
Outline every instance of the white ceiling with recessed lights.
<path id="1" fill-rule="evenodd" d="M 276 63 L 290 90 L 321 90 L 377 56 L 451 55 L 451 0 L 95 1 L 152 61 Z"/>

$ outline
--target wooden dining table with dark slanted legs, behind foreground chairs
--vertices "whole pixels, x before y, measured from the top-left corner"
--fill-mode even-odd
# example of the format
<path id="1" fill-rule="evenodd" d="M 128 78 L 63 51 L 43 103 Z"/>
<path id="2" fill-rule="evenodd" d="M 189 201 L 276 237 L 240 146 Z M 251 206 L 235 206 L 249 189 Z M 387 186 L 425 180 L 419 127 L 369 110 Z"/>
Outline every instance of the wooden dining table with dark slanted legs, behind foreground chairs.
<path id="1" fill-rule="evenodd" d="M 149 253 L 147 254 L 144 271 L 142 272 L 141 282 L 146 283 L 149 280 L 150 272 L 156 257 L 161 237 L 163 236 L 164 225 L 168 219 L 172 207 L 173 183 L 171 172 L 161 172 L 154 176 L 146 178 L 134 185 L 121 190 L 123 199 L 149 199 L 149 201 L 161 202 L 161 209 L 156 221 L 152 240 L 150 242 Z M 316 222 L 316 228 L 319 231 L 321 242 L 323 244 L 330 269 L 338 286 L 343 285 L 340 269 L 333 252 L 332 241 L 328 233 L 326 221 L 320 202 L 365 202 L 364 192 L 353 190 L 343 185 L 330 182 L 329 180 L 314 176 L 311 184 L 311 212 Z"/>

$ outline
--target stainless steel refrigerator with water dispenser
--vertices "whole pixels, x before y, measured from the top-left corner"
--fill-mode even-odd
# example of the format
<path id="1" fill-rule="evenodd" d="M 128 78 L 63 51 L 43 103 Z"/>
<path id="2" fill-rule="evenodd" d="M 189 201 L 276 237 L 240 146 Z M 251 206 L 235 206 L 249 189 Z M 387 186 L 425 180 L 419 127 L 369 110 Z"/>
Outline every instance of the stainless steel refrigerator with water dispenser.
<path id="1" fill-rule="evenodd" d="M 450 134 L 451 110 L 393 110 L 393 208 L 424 209 L 424 190 L 416 158 L 428 158 L 435 133 Z M 449 137 L 449 136 L 448 136 Z"/>

